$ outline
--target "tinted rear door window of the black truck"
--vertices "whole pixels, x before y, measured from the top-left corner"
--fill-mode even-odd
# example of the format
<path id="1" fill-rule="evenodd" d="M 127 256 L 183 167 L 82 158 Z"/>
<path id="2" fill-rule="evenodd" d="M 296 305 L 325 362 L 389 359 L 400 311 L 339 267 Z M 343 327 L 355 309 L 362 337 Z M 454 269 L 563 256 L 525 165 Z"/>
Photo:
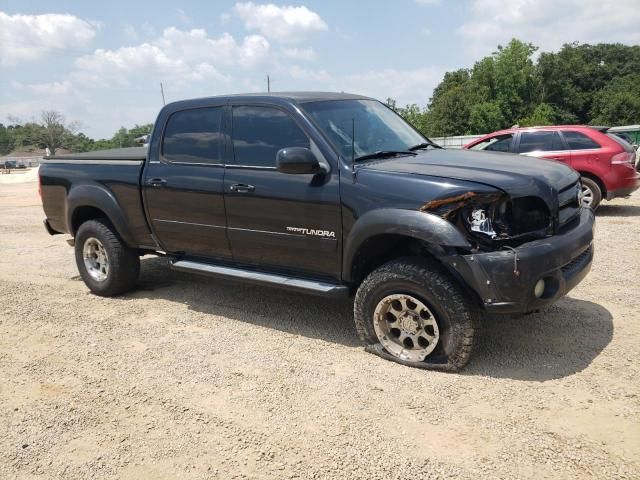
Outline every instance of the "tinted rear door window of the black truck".
<path id="1" fill-rule="evenodd" d="M 222 107 L 175 112 L 165 128 L 162 156 L 172 163 L 222 163 Z"/>

